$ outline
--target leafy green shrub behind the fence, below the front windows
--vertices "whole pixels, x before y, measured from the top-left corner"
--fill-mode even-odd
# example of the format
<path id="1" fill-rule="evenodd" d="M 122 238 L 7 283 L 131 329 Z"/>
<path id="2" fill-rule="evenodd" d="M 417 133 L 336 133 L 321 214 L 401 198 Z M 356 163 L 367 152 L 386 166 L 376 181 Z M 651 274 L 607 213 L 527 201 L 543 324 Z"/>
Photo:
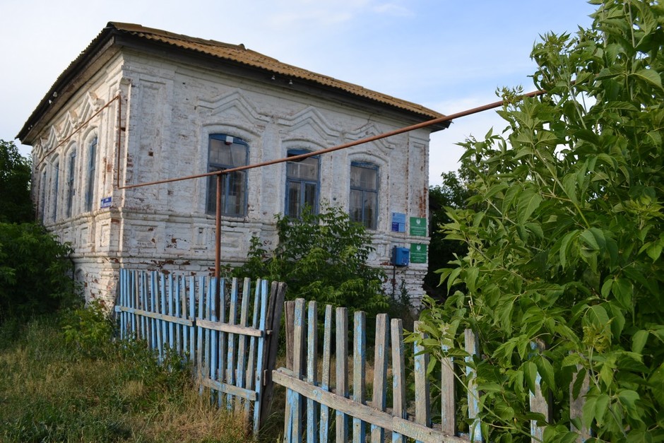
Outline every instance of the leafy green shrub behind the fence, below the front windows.
<path id="1" fill-rule="evenodd" d="M 302 211 L 302 218 L 277 216 L 279 244 L 272 254 L 251 241 L 247 264 L 237 276 L 287 283 L 287 298 L 317 300 L 371 313 L 389 306 L 383 271 L 367 265 L 371 235 L 340 208 Z"/>

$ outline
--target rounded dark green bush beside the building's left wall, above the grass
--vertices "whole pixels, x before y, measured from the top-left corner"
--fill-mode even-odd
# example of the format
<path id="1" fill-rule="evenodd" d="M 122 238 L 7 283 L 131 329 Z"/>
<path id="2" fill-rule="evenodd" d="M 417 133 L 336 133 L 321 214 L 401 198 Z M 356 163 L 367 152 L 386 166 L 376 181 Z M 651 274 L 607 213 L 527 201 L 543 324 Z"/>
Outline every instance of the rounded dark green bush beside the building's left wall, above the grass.
<path id="1" fill-rule="evenodd" d="M 70 253 L 41 225 L 0 223 L 0 313 L 26 317 L 78 302 Z"/>

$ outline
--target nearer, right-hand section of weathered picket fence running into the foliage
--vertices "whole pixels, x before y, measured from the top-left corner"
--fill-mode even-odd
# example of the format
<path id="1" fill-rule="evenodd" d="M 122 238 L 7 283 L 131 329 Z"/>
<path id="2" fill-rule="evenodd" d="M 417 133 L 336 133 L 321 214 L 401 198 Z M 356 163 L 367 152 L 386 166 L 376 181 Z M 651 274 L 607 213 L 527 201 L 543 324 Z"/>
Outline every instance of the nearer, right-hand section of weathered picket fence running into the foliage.
<path id="1" fill-rule="evenodd" d="M 474 384 L 475 374 L 465 366 L 468 389 L 468 418 L 470 429 L 466 435 L 457 435 L 455 369 L 451 358 L 441 362 L 440 423 L 432 423 L 431 396 L 427 379 L 429 355 L 415 344 L 413 360 L 405 361 L 403 324 L 401 319 L 389 321 L 387 314 L 376 319 L 373 379 L 367 380 L 367 329 L 364 312 L 355 312 L 352 325 L 352 358 L 348 354 L 348 309 L 336 308 L 333 322 L 332 307 L 324 310 L 322 364 L 319 364 L 318 306 L 309 302 L 305 312 L 304 300 L 286 302 L 287 353 L 292 355 L 289 367 L 273 372 L 275 383 L 285 386 L 285 442 L 353 442 L 405 443 L 407 438 L 417 442 L 482 442 L 478 398 L 480 392 Z M 289 319 L 290 317 L 290 319 Z M 334 329 L 334 338 L 333 338 Z M 415 323 L 417 330 L 417 322 Z M 478 353 L 475 334 L 465 331 L 466 352 L 473 358 Z M 334 352 L 333 352 L 334 346 Z M 534 351 L 536 351 L 536 346 Z M 333 359 L 336 360 L 333 362 Z M 290 360 L 290 358 L 289 358 Z M 352 360 L 352 389 L 348 363 Z M 391 360 L 391 365 L 389 365 Z M 406 371 L 408 363 L 414 378 L 414 398 L 408 396 Z M 438 364 L 438 363 L 437 363 Z M 331 379 L 334 365 L 334 383 Z M 372 397 L 366 398 L 367 382 L 372 383 Z M 391 384 L 392 404 L 386 404 Z M 539 377 L 538 377 L 539 384 Z M 571 402 L 571 414 L 579 416 L 582 404 Z M 530 410 L 542 413 L 550 421 L 550 408 L 539 389 L 530 394 Z M 334 427 L 334 429 L 332 429 Z M 391 434 L 391 435 L 390 435 Z M 543 440 L 543 427 L 530 423 L 533 441 Z M 580 439 L 588 437 L 581 430 Z"/>

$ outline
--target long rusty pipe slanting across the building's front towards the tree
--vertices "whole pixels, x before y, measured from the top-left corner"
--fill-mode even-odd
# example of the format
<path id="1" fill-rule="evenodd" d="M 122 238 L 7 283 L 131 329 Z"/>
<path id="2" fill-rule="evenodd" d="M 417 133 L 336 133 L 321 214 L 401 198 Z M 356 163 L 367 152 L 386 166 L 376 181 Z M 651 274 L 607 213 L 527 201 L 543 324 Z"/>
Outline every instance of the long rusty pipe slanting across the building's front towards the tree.
<path id="1" fill-rule="evenodd" d="M 523 95 L 521 95 L 521 97 L 537 97 L 538 95 L 543 95 L 545 93 L 546 93 L 545 90 L 535 90 L 533 92 L 523 94 Z M 377 140 L 380 140 L 381 138 L 396 136 L 398 134 L 403 134 L 404 132 L 414 131 L 415 129 L 425 128 L 427 126 L 432 126 L 434 124 L 450 122 L 453 119 L 458 119 L 460 117 L 466 117 L 466 115 L 477 114 L 478 112 L 491 110 L 491 109 L 494 109 L 496 107 L 502 106 L 503 104 L 504 104 L 504 100 L 499 100 L 498 102 L 493 102 L 493 103 L 489 103 L 488 105 L 474 107 L 470 110 L 457 112 L 456 114 L 445 115 L 443 117 L 438 117 L 437 119 L 427 120 L 427 122 L 412 124 L 410 126 L 405 126 L 403 128 L 400 128 L 400 129 L 395 129 L 393 131 L 384 132 L 383 134 L 378 134 L 377 136 L 371 136 L 371 137 L 367 137 L 367 138 L 360 138 L 359 140 L 349 141 L 348 143 L 343 143 L 341 145 L 332 146 L 331 148 L 314 150 L 310 153 L 304 153 L 304 154 L 300 154 L 300 155 L 293 155 L 292 157 L 278 158 L 276 160 L 268 160 L 266 162 L 254 163 L 252 165 L 230 167 L 230 168 L 228 168 L 226 170 L 223 170 L 223 171 L 206 172 L 204 174 L 188 175 L 186 177 L 177 177 L 177 178 L 174 178 L 174 179 L 164 179 L 164 180 L 158 180 L 156 182 L 145 182 L 145 183 L 138 183 L 138 184 L 130 184 L 130 185 L 127 185 L 127 186 L 124 186 L 124 187 L 119 187 L 119 189 L 133 189 L 133 188 L 144 187 L 144 186 L 154 186 L 155 184 L 180 182 L 182 180 L 198 179 L 198 178 L 202 178 L 202 177 L 209 177 L 211 175 L 223 175 L 223 174 L 229 174 L 230 172 L 237 172 L 237 171 L 244 171 L 244 170 L 254 169 L 255 167 L 263 167 L 263 166 L 269 166 L 269 165 L 276 165 L 278 163 L 285 163 L 285 162 L 290 162 L 290 161 L 302 160 L 304 158 L 313 157 L 314 155 L 321 155 L 321 154 L 331 153 L 331 152 L 334 152 L 335 150 L 341 150 L 341 149 L 345 149 L 345 148 L 350 148 L 352 146 L 361 145 L 363 143 L 369 143 L 371 141 L 377 141 Z"/>

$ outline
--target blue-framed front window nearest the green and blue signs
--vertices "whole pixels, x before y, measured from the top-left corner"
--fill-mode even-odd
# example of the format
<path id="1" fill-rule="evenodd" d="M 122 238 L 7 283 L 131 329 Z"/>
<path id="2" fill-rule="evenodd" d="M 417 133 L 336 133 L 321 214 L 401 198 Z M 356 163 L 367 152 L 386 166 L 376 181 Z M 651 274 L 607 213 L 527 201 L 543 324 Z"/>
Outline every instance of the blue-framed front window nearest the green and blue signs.
<path id="1" fill-rule="evenodd" d="M 376 229 L 378 215 L 378 166 L 350 163 L 350 219 Z"/>

